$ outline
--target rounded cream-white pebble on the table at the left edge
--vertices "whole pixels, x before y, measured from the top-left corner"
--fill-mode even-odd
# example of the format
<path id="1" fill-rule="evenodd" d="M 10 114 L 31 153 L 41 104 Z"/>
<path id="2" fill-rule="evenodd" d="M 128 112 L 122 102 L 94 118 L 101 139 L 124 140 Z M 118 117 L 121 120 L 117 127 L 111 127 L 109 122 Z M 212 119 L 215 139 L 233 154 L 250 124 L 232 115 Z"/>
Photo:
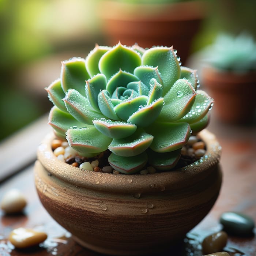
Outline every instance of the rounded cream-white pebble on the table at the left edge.
<path id="1" fill-rule="evenodd" d="M 11 189 L 3 196 L 1 209 L 7 213 L 21 212 L 26 206 L 27 200 L 18 189 Z"/>

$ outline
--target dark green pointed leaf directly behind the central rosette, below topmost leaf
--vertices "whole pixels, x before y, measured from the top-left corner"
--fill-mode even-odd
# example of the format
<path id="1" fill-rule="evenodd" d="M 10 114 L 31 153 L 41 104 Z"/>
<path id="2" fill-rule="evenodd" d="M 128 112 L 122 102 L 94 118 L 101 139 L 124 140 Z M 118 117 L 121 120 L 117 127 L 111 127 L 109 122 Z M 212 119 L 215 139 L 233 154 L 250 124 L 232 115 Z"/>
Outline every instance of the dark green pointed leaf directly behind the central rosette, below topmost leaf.
<path id="1" fill-rule="evenodd" d="M 139 81 L 139 78 L 129 72 L 119 69 L 119 71 L 109 79 L 106 85 L 106 90 L 112 95 L 117 87 L 126 87 L 128 83 L 134 81 Z"/>

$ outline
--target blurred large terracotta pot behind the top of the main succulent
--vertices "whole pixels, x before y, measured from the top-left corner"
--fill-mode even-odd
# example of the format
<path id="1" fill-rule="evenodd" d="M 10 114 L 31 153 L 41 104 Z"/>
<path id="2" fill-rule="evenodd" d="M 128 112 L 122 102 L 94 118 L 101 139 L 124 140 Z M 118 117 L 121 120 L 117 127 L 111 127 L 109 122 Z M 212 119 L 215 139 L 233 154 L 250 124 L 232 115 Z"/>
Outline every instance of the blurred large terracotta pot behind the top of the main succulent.
<path id="1" fill-rule="evenodd" d="M 143 48 L 173 45 L 185 63 L 206 9 L 205 1 L 131 4 L 104 0 L 99 5 L 99 18 L 108 45 L 119 40 L 123 45 L 138 43 Z"/>

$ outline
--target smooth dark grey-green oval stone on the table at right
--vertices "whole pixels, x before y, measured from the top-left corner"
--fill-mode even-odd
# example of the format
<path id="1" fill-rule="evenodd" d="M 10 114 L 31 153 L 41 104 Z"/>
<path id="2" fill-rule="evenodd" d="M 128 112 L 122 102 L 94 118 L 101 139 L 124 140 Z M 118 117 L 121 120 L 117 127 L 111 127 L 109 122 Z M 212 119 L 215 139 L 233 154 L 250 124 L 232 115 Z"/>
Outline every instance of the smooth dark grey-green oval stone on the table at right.
<path id="1" fill-rule="evenodd" d="M 220 222 L 223 225 L 223 230 L 228 234 L 237 236 L 252 235 L 255 226 L 251 217 L 238 212 L 224 212 L 221 215 Z"/>

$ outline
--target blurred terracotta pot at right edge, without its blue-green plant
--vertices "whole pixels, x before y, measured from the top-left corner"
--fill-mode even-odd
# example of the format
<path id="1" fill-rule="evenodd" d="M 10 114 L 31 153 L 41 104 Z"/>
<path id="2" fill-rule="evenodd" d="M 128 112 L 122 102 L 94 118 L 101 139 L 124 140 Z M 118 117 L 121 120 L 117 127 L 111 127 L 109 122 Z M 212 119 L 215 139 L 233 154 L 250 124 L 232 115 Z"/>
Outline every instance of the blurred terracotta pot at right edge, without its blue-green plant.
<path id="1" fill-rule="evenodd" d="M 202 84 L 214 98 L 214 109 L 225 123 L 246 124 L 255 120 L 256 72 L 237 74 L 204 68 Z"/>

